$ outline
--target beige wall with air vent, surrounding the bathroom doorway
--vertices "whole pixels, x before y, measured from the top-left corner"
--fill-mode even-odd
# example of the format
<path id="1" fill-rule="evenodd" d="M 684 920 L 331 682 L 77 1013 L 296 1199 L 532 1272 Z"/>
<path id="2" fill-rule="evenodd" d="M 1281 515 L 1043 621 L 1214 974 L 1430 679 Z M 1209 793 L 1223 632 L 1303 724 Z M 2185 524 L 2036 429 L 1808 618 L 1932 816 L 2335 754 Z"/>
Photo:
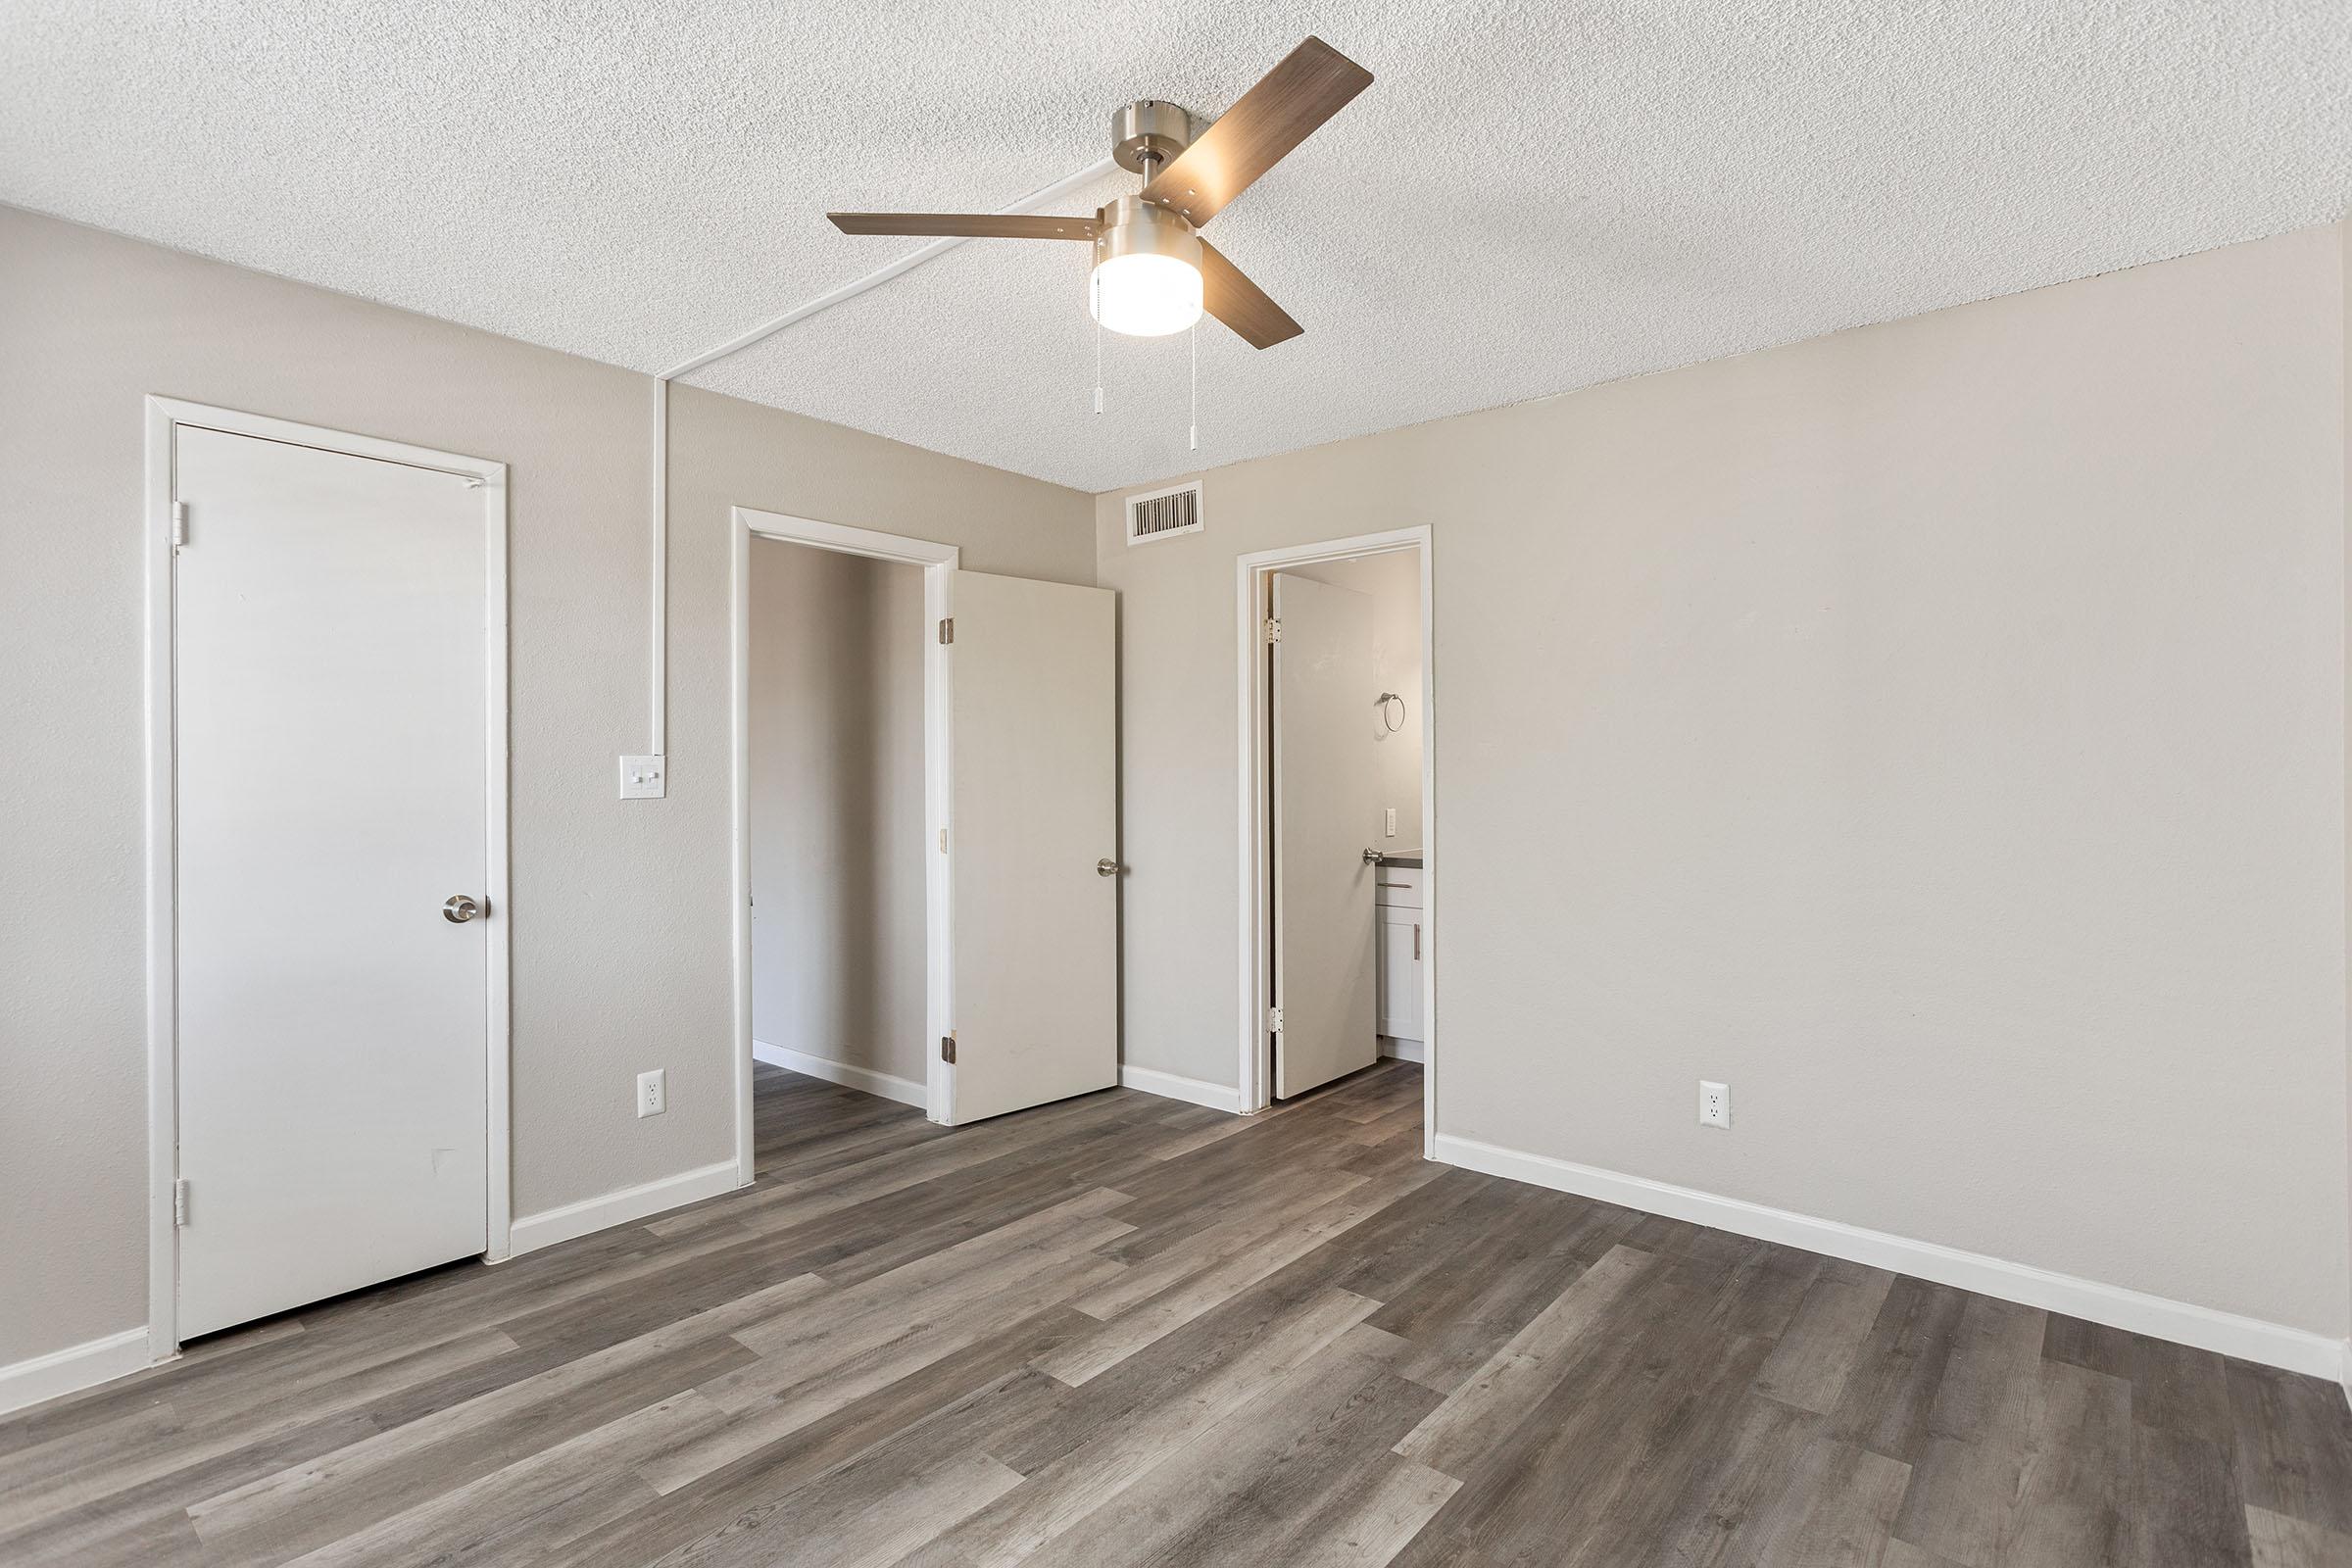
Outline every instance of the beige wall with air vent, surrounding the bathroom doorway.
<path id="1" fill-rule="evenodd" d="M 1127 1058 L 1235 1077 L 1235 555 L 1430 524 L 1442 1133 L 2343 1335 L 2340 270 L 1242 463 L 1148 550 L 1101 498 Z"/>

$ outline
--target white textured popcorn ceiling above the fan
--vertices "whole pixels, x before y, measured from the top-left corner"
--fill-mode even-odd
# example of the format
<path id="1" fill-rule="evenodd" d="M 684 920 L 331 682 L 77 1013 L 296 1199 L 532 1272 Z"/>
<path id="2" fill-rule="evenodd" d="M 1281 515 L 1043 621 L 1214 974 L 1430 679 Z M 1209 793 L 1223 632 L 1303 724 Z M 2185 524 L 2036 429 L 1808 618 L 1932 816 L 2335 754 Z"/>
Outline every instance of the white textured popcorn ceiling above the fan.
<path id="1" fill-rule="evenodd" d="M 1115 489 L 2352 197 L 2345 0 L 14 0 L 0 200 L 659 371 L 915 244 L 826 207 L 1000 207 L 1305 33 L 1378 80 L 1209 228 L 1308 334 L 1202 329 L 1197 454 L 1183 339 L 1108 339 L 1089 411 L 1077 244 L 964 244 L 691 381 Z"/>

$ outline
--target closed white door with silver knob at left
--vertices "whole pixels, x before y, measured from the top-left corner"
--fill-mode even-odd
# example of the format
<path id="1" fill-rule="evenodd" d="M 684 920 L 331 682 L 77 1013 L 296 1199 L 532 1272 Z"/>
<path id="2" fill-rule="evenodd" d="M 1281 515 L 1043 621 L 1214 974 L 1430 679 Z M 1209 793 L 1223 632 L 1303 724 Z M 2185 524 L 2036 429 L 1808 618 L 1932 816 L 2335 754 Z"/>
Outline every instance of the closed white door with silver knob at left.
<path id="1" fill-rule="evenodd" d="M 487 524 L 188 425 L 174 494 L 186 1338 L 485 1251 Z"/>

